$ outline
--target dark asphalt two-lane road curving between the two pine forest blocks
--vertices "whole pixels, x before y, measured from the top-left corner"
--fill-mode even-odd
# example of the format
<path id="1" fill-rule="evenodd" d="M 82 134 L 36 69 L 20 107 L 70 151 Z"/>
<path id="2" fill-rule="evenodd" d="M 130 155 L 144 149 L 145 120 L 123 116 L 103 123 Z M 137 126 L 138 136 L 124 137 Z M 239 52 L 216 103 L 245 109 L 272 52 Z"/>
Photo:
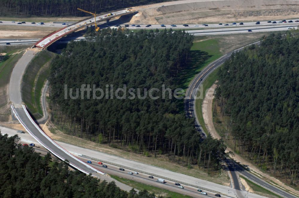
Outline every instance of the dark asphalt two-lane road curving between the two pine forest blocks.
<path id="1" fill-rule="evenodd" d="M 260 45 L 260 41 L 257 41 L 253 44 Z M 250 45 L 252 45 L 252 44 L 250 44 Z M 247 45 L 247 46 L 249 46 L 249 45 Z M 244 47 L 241 47 L 239 49 L 228 52 L 227 54 L 223 55 L 219 59 L 210 63 L 208 66 L 206 66 L 204 69 L 202 69 L 202 71 L 198 75 L 196 75 L 196 77 L 191 81 L 189 88 L 187 89 L 186 99 L 185 99 L 185 112 L 186 112 L 187 116 L 195 117 L 195 126 L 196 126 L 196 129 L 199 131 L 199 133 L 202 134 L 202 138 L 206 137 L 206 133 L 203 131 L 203 129 L 199 123 L 198 117 L 196 115 L 196 111 L 195 111 L 195 102 L 196 102 L 197 93 L 200 90 L 199 87 L 202 85 L 203 81 L 208 77 L 208 75 L 210 75 L 217 67 L 221 66 L 228 58 L 231 57 L 231 55 L 233 53 L 236 53 L 242 49 L 244 49 Z M 269 183 L 261 180 L 260 178 L 254 176 L 250 172 L 244 170 L 242 167 L 237 165 L 232 160 L 230 162 L 228 162 L 228 167 L 232 173 L 232 177 L 234 180 L 236 190 L 239 189 L 239 186 L 236 185 L 239 182 L 237 182 L 238 178 L 237 178 L 235 171 L 238 171 L 239 173 L 243 174 L 248 179 L 258 183 L 259 185 L 263 186 L 264 188 L 267 188 L 279 195 L 282 195 L 283 197 L 296 198 L 296 196 L 291 195 L 273 185 L 270 185 Z"/>

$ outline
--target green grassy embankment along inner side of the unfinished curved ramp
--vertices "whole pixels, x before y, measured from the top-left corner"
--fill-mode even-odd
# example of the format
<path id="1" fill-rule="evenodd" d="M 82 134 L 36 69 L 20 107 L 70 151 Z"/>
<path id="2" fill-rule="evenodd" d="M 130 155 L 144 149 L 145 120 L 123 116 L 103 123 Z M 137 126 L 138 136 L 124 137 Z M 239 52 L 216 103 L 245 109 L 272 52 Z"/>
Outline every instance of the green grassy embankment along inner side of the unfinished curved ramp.
<path id="1" fill-rule="evenodd" d="M 30 113 L 39 119 L 42 117 L 40 98 L 45 80 L 50 75 L 50 61 L 56 54 L 44 50 L 28 64 L 22 78 L 22 99 Z"/>

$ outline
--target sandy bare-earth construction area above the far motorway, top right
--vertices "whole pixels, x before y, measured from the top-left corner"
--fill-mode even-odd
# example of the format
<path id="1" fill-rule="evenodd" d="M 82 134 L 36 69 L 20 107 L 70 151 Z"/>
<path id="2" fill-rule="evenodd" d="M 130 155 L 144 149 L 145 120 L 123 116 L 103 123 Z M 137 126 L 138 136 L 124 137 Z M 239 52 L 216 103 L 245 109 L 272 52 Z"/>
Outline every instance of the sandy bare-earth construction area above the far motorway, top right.
<path id="1" fill-rule="evenodd" d="M 246 22 L 299 18 L 299 0 L 185 0 L 134 7 L 140 24 Z"/>

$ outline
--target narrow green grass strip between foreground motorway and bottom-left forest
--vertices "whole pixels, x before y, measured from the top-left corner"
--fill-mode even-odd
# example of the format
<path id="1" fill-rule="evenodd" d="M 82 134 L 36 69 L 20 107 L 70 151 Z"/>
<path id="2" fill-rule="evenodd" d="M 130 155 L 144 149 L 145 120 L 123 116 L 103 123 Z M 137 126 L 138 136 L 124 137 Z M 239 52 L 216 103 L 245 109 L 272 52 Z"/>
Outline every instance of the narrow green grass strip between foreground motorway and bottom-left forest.
<path id="1" fill-rule="evenodd" d="M 168 190 L 165 190 L 163 188 L 158 188 L 158 187 L 155 187 L 155 186 L 146 185 L 146 184 L 143 184 L 143 183 L 135 182 L 133 180 L 128 180 L 128 179 L 125 179 L 125 178 L 122 178 L 122 177 L 118 177 L 118 176 L 115 176 L 115 175 L 110 175 L 110 176 L 112 178 L 114 178 L 115 180 L 117 180 L 119 182 L 122 182 L 126 185 L 129 185 L 132 188 L 135 188 L 137 190 L 143 190 L 144 189 L 144 190 L 147 190 L 150 193 L 155 193 L 156 196 L 163 195 L 164 197 L 171 197 L 171 198 L 181 198 L 181 197 L 191 198 L 190 196 L 175 193 L 175 192 L 172 192 L 172 191 L 168 191 Z"/>

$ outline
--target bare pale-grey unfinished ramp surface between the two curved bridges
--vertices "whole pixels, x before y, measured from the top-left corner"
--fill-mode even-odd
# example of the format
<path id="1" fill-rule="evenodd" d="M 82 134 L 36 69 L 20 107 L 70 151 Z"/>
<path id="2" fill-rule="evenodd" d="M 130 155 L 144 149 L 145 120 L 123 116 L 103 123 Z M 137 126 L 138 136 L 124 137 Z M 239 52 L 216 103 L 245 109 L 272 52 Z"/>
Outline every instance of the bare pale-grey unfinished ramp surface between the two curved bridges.
<path id="1" fill-rule="evenodd" d="M 13 68 L 13 72 L 10 76 L 9 81 L 9 99 L 12 103 L 15 104 L 16 108 L 20 108 L 22 104 L 22 97 L 21 97 L 21 81 L 22 76 L 25 72 L 25 69 L 31 59 L 34 57 L 35 52 L 31 50 L 27 50 L 23 56 L 19 59 L 16 63 L 15 67 Z"/>

